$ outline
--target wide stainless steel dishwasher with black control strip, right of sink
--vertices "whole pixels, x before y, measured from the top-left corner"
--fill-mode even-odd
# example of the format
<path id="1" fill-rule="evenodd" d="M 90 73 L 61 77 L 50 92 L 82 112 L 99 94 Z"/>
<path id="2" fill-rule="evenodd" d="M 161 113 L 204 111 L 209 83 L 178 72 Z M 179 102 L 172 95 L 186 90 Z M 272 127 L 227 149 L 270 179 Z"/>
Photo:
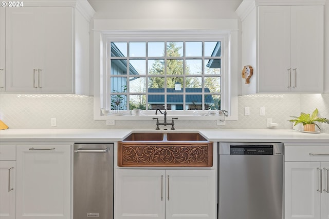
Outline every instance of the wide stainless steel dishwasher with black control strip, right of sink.
<path id="1" fill-rule="evenodd" d="M 283 144 L 218 145 L 218 219 L 282 219 Z"/>

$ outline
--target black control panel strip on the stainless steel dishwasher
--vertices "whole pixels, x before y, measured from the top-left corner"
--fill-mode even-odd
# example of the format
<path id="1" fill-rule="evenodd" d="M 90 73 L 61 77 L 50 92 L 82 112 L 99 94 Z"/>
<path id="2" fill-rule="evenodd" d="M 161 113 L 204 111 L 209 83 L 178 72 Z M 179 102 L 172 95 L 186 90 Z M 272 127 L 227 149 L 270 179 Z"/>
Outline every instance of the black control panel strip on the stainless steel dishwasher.
<path id="1" fill-rule="evenodd" d="M 272 145 L 231 145 L 232 155 L 273 155 Z"/>

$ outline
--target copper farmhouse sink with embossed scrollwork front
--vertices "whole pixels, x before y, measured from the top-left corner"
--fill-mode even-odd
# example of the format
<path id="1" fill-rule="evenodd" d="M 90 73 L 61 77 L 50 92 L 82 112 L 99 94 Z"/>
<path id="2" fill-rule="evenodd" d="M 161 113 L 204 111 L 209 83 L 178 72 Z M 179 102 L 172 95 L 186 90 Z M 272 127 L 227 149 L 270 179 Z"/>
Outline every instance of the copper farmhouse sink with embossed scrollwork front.
<path id="1" fill-rule="evenodd" d="M 213 142 L 199 133 L 136 132 L 118 142 L 119 167 L 212 167 Z"/>

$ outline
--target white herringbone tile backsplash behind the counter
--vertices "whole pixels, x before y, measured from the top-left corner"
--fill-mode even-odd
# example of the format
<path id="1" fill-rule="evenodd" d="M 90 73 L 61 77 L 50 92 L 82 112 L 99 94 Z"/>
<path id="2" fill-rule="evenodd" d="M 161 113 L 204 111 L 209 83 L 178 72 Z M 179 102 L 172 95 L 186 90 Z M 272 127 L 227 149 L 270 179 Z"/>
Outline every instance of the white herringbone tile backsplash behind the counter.
<path id="1" fill-rule="evenodd" d="M 56 128 L 145 128 L 155 127 L 154 121 L 116 121 L 106 126 L 105 121 L 93 118 L 94 98 L 74 94 L 0 94 L 0 119 L 9 128 L 51 128 L 50 118 L 57 118 Z M 244 116 L 244 107 L 250 115 Z M 266 108 L 266 116 L 260 116 L 260 107 Z M 239 96 L 237 121 L 226 121 L 217 126 L 214 121 L 177 121 L 177 129 L 265 129 L 267 118 L 278 123 L 278 129 L 290 129 L 289 115 L 312 113 L 319 109 L 321 117 L 329 118 L 329 94 L 255 94 Z M 329 133 L 329 125 L 320 124 L 321 131 Z"/>

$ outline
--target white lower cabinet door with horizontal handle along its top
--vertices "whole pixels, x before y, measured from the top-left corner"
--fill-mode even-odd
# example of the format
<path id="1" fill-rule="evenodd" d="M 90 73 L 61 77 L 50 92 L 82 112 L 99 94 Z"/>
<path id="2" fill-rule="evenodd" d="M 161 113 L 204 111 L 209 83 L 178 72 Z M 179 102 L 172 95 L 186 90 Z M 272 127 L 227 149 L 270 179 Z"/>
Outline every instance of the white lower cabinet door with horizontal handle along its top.
<path id="1" fill-rule="evenodd" d="M 70 146 L 17 146 L 16 219 L 70 218 Z"/>

